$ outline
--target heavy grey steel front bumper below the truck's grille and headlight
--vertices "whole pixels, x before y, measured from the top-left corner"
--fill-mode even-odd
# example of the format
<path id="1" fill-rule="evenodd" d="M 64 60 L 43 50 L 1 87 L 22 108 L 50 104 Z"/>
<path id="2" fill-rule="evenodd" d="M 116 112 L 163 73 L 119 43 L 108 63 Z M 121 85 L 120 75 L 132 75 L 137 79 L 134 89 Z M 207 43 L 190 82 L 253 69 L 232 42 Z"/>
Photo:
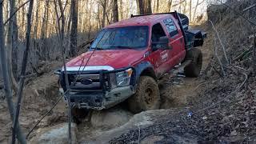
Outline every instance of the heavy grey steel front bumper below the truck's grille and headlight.
<path id="1" fill-rule="evenodd" d="M 63 94 L 63 90 L 60 90 Z M 78 108 L 102 110 L 123 102 L 135 93 L 134 86 L 116 87 L 110 91 L 104 92 L 70 92 L 70 102 L 72 106 Z M 64 95 L 65 101 L 67 94 Z M 67 101 L 66 101 L 67 102 Z"/>

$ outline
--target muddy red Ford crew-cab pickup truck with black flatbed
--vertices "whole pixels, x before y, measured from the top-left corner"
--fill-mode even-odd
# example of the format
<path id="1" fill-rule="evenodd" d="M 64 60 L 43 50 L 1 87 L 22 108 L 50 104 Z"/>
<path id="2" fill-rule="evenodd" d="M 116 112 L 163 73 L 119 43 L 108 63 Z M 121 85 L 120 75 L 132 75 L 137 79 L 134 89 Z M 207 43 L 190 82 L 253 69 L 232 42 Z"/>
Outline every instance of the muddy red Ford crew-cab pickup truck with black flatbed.
<path id="1" fill-rule="evenodd" d="M 132 15 L 106 26 L 88 52 L 66 63 L 70 102 L 102 110 L 126 101 L 134 113 L 158 109 L 163 74 L 184 62 L 186 76 L 200 74 L 202 53 L 194 47 L 202 46 L 206 34 L 188 24 L 184 14 L 172 12 Z M 64 94 L 64 69 L 58 74 Z"/>

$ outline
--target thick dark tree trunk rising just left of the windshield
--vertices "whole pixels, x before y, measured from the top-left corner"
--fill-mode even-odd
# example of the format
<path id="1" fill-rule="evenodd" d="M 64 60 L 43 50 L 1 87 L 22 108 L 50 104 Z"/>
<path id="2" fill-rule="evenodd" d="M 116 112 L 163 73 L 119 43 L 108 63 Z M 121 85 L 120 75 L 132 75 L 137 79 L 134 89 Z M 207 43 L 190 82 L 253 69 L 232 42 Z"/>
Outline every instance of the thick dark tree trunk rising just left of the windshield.
<path id="1" fill-rule="evenodd" d="M 78 38 L 78 0 L 71 0 L 71 32 L 70 32 L 70 56 L 76 55 Z"/>

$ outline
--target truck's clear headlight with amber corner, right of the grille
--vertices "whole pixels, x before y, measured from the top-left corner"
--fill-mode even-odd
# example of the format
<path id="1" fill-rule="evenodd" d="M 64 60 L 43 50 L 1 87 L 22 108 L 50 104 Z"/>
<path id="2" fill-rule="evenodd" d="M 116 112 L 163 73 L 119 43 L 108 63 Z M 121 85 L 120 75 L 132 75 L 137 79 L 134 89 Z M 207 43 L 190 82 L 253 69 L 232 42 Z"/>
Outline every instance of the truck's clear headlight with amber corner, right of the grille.
<path id="1" fill-rule="evenodd" d="M 133 73 L 132 69 L 121 71 L 116 73 L 117 86 L 130 85 L 130 76 Z"/>

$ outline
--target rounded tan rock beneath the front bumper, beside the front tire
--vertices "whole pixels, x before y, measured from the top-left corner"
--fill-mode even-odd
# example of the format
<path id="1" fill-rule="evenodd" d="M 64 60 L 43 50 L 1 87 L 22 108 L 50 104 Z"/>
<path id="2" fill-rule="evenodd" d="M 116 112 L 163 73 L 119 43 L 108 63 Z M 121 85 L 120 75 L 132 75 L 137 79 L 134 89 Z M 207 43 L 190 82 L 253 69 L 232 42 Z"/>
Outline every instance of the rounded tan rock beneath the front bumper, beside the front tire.
<path id="1" fill-rule="evenodd" d="M 132 116 L 129 111 L 117 107 L 110 110 L 95 110 L 91 115 L 91 124 L 103 129 L 115 128 L 128 122 Z"/>

